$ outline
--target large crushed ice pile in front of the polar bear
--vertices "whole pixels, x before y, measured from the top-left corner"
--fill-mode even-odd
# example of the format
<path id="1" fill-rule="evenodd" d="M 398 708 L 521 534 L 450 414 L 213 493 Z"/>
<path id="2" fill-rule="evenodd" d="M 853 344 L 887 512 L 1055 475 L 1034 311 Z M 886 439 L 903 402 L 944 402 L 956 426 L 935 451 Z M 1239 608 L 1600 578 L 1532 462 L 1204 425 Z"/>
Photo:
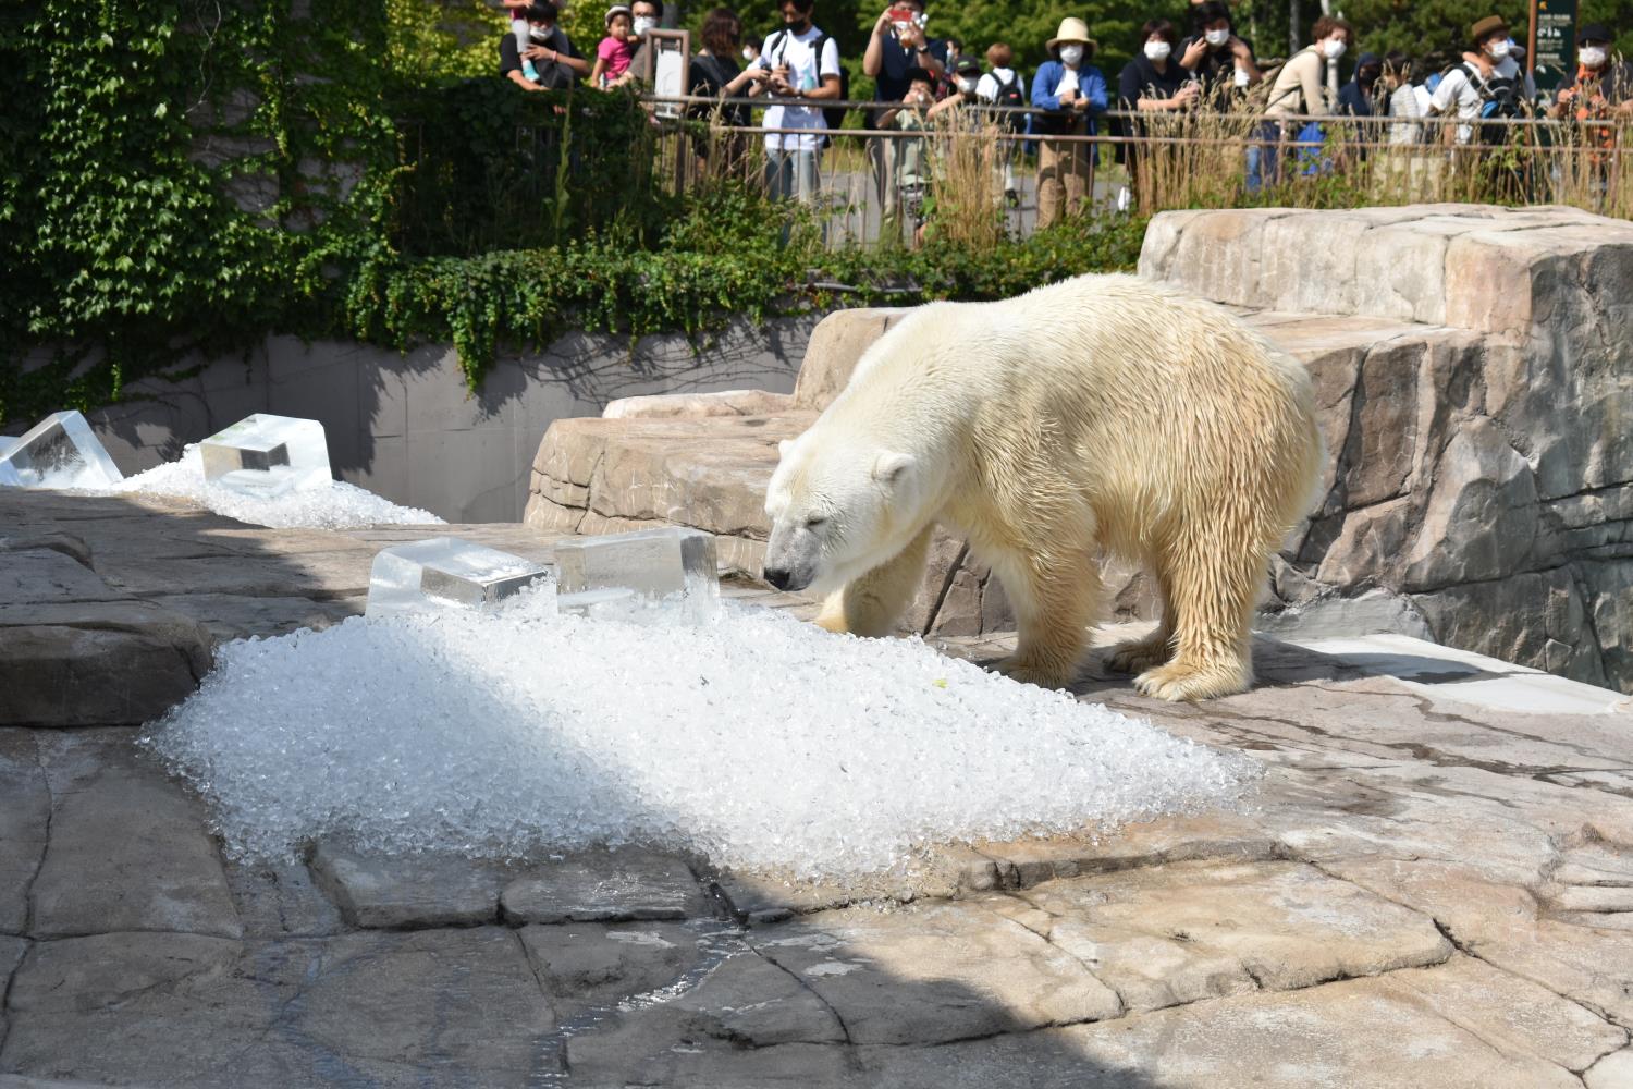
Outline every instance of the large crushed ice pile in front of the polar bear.
<path id="1" fill-rule="evenodd" d="M 764 607 L 354 617 L 217 651 L 144 743 L 235 857 L 330 834 L 523 857 L 639 842 L 848 878 L 923 847 L 1239 797 L 1254 766 L 937 655 Z"/>

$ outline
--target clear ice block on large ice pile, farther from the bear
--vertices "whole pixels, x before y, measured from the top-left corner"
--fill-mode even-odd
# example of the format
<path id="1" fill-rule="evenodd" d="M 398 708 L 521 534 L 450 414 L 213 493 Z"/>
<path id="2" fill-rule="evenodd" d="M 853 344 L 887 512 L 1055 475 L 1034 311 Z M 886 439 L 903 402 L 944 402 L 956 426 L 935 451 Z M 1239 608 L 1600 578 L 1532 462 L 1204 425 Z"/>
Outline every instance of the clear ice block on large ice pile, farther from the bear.
<path id="1" fill-rule="evenodd" d="M 431 537 L 382 549 L 369 571 L 367 616 L 477 609 L 518 593 L 550 568 L 509 552 Z"/>

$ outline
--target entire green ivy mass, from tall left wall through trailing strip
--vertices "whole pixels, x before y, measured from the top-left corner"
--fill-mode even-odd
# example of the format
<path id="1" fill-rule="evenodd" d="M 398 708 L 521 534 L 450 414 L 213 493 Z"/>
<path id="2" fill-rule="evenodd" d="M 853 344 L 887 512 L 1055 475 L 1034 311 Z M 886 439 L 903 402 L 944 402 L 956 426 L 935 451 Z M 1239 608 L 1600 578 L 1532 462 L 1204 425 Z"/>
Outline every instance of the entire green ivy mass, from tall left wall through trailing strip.
<path id="1" fill-rule="evenodd" d="M 748 184 L 665 196 L 627 95 L 405 83 L 389 8 L 0 11 L 0 424 L 118 402 L 274 330 L 452 341 L 475 387 L 501 346 L 570 328 L 990 299 L 1138 255 L 1132 220 L 980 253 L 826 251 L 808 214 Z"/>

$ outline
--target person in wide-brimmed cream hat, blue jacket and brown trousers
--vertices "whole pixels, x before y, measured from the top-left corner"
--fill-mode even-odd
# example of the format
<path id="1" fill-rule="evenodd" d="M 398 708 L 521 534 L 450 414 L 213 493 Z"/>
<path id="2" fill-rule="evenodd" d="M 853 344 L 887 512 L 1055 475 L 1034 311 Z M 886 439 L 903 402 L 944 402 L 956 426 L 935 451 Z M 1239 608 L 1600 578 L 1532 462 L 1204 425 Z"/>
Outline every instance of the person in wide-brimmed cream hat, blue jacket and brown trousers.
<path id="1" fill-rule="evenodd" d="M 1050 136 L 1092 136 L 1094 116 L 1106 111 L 1106 77 L 1089 64 L 1094 39 L 1083 20 L 1063 18 L 1048 39 L 1048 56 L 1032 77 L 1032 104 L 1050 114 L 1034 118 L 1037 149 L 1037 225 L 1083 211 L 1094 191 L 1094 152 L 1084 140 Z"/>

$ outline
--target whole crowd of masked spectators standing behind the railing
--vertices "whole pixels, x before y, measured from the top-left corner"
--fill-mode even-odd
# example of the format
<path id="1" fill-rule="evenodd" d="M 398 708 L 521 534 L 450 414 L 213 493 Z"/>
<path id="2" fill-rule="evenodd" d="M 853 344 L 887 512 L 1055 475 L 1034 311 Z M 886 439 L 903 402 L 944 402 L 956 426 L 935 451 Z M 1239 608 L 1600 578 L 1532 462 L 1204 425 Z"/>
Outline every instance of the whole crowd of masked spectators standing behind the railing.
<path id="1" fill-rule="evenodd" d="M 586 82 L 606 90 L 650 78 L 652 57 L 643 51 L 652 49 L 650 33 L 658 26 L 655 0 L 609 7 L 593 62 L 557 24 L 550 0 L 500 2 L 511 16 L 511 33 L 500 41 L 500 73 L 518 87 L 555 90 Z M 764 39 L 745 38 L 735 11 L 709 11 L 687 73 L 687 93 L 702 100 L 766 98 L 759 124 L 766 184 L 777 198 L 800 201 L 816 198 L 826 131 L 844 119 L 844 108 L 826 103 L 849 96 L 838 42 L 813 21 L 813 5 L 779 0 L 781 26 Z M 1254 116 L 1244 139 L 1246 189 L 1253 193 L 1290 170 L 1331 167 L 1329 155 L 1311 158 L 1306 149 L 1328 140 L 1341 119 L 1372 122 L 1354 126 L 1352 134 L 1354 153 L 1365 157 L 1380 140 L 1502 144 L 1507 129 L 1501 121 L 1528 114 L 1577 121 L 1633 114 L 1633 64 L 1612 56 L 1612 34 L 1595 23 L 1581 28 L 1576 70 L 1551 98 L 1538 98 L 1524 51 L 1497 15 L 1470 28 L 1466 51 L 1450 67 L 1422 72 L 1401 52 L 1362 52 L 1339 87 L 1337 65 L 1354 41 L 1347 21 L 1323 16 L 1303 49 L 1261 65 L 1226 0 L 1192 0 L 1187 28 L 1166 18 L 1140 28 L 1138 41 L 1130 42 L 1137 52 L 1112 85 L 1094 65 L 1097 44 L 1081 18 L 1060 21 L 1055 36 L 1042 42 L 1047 59 L 1027 77 L 1014 65 L 1012 44 L 991 42 L 985 54 L 967 54 L 957 39 L 929 33 L 924 0 L 895 0 L 874 21 L 861 57 L 861 72 L 874 80 L 874 106 L 864 116 L 877 134 L 865 144 L 874 198 L 887 216 L 916 207 L 928 184 L 926 126 L 959 108 L 986 108 L 986 116 L 1014 134 L 998 157 L 1011 204 L 1019 201 L 1016 162 L 1022 149 L 1035 150 L 1040 227 L 1092 199 L 1102 145 L 1083 137 L 1117 137 L 1117 158 L 1137 181 L 1141 137 L 1163 116 Z M 741 101 L 719 109 L 691 104 L 687 113 L 712 114 L 732 129 L 751 124 Z"/>

